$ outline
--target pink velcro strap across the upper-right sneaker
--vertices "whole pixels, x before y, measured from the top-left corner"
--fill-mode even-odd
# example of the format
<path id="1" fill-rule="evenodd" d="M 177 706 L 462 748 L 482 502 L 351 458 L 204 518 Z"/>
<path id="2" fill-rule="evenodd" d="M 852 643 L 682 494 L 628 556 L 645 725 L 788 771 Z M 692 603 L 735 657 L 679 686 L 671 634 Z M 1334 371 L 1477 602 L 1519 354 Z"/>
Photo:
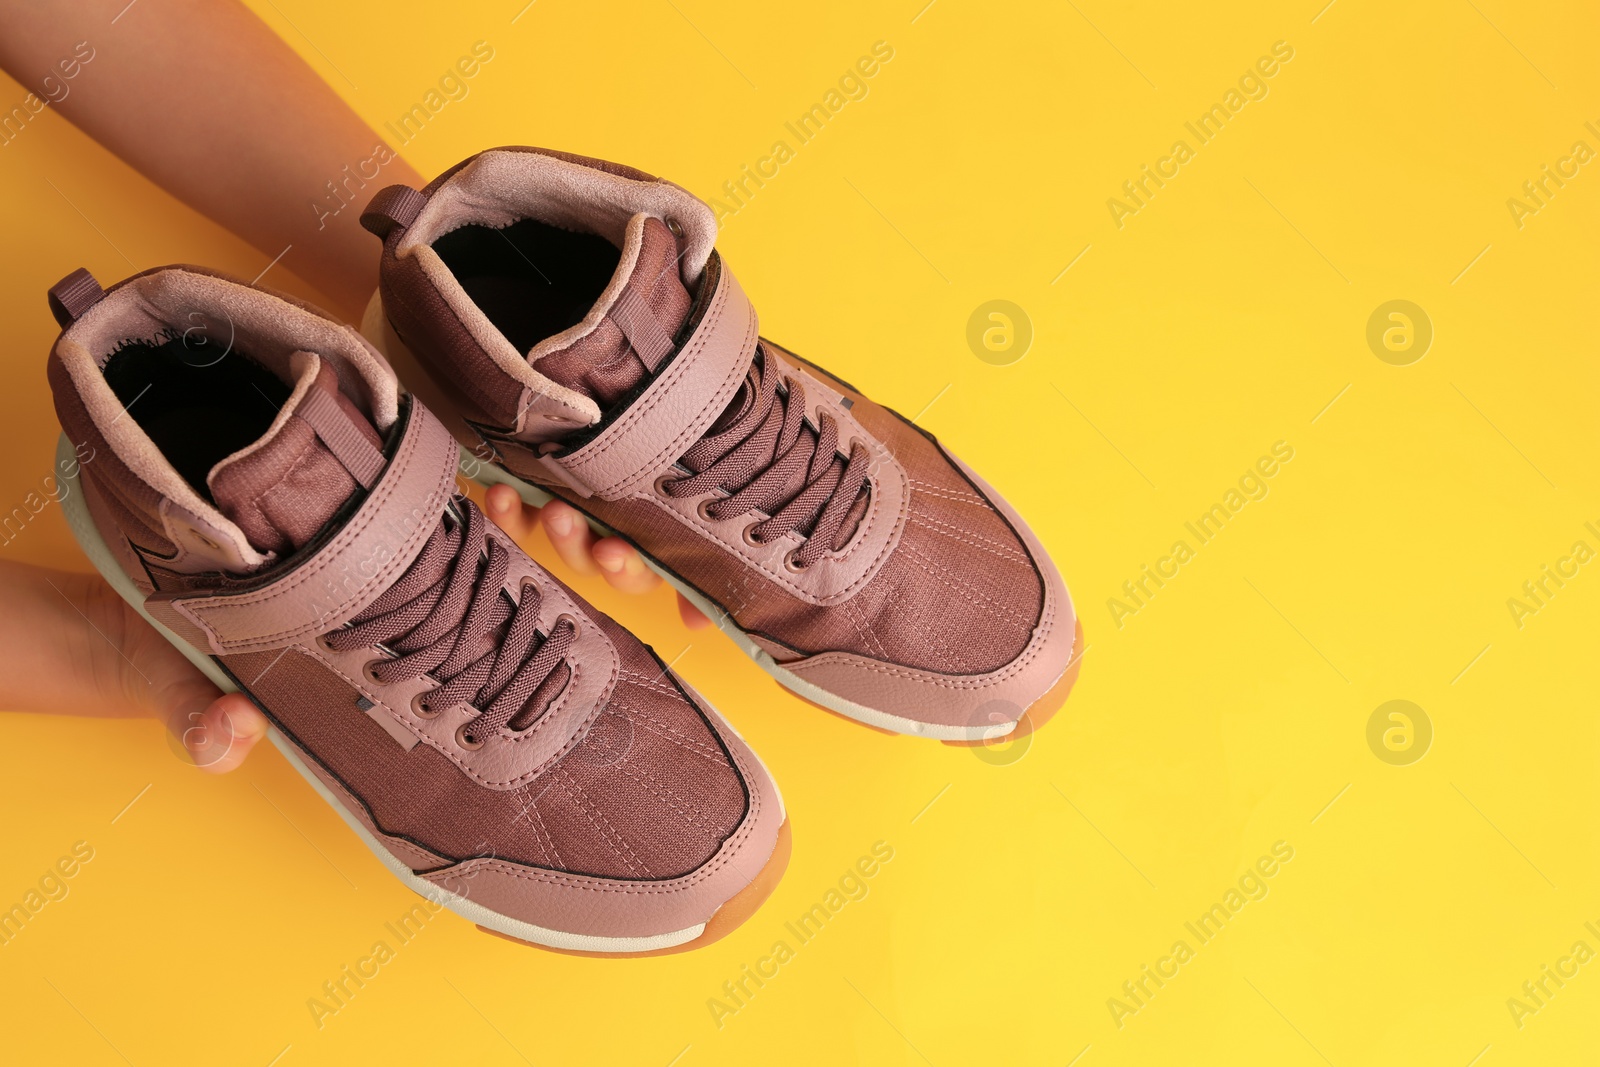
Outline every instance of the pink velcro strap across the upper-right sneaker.
<path id="1" fill-rule="evenodd" d="M 728 406 L 755 358 L 755 309 L 720 256 L 707 262 L 704 285 L 715 286 L 706 314 L 667 370 L 592 442 L 544 458 L 557 478 L 603 501 L 629 496 L 677 462 Z"/>

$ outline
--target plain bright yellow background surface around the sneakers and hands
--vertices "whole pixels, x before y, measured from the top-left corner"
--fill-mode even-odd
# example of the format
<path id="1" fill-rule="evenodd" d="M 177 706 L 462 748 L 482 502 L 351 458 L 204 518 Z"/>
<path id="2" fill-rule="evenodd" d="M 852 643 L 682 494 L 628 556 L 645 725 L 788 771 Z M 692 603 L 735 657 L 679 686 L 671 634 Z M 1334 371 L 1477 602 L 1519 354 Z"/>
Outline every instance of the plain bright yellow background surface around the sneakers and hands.
<path id="1" fill-rule="evenodd" d="M 1600 963 L 1520 1029 L 1506 1003 L 1600 949 L 1600 563 L 1522 629 L 1507 609 L 1600 549 L 1600 163 L 1522 229 L 1506 206 L 1600 149 L 1592 5 L 922 3 L 251 6 L 374 126 L 488 42 L 405 147 L 426 174 L 541 144 L 702 197 L 888 42 L 720 246 L 768 336 L 909 416 L 938 397 L 920 424 L 1050 545 L 1090 643 L 1059 718 L 994 761 L 886 737 L 685 632 L 666 590 L 579 581 L 768 761 L 784 883 L 728 939 L 642 961 L 442 915 L 318 1030 L 307 998 L 416 897 L 288 765 L 213 779 L 154 723 L 5 715 L 0 904 L 96 849 L 0 949 L 8 1062 L 1594 1062 Z M 1269 96 L 1117 229 L 1107 198 L 1278 40 Z M 0 192 L 10 502 L 54 448 L 46 285 L 266 258 L 53 114 L 0 150 Z M 1034 325 L 1010 366 L 965 339 L 990 299 Z M 1411 366 L 1365 341 L 1390 299 L 1434 323 Z M 1122 582 L 1278 440 L 1270 494 L 1118 629 Z M 5 552 L 82 566 L 56 510 Z M 1434 726 L 1410 766 L 1366 744 L 1390 699 Z M 869 896 L 718 1029 L 707 1000 L 880 840 Z M 1184 923 L 1280 840 L 1266 899 L 1195 944 Z M 1178 939 L 1195 958 L 1118 1029 L 1107 998 Z"/>

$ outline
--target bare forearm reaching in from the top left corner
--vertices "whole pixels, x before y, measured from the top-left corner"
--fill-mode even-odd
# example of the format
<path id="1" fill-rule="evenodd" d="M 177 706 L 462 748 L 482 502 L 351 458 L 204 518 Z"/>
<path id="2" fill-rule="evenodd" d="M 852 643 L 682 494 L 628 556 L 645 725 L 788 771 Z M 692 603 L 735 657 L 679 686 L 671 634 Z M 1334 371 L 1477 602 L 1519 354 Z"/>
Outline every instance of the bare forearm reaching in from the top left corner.
<path id="1" fill-rule="evenodd" d="M 0 66 L 18 82 L 261 250 L 262 267 L 288 248 L 282 266 L 330 310 L 360 315 L 378 242 L 357 216 L 382 186 L 421 179 L 254 13 L 224 0 L 0 0 Z"/>

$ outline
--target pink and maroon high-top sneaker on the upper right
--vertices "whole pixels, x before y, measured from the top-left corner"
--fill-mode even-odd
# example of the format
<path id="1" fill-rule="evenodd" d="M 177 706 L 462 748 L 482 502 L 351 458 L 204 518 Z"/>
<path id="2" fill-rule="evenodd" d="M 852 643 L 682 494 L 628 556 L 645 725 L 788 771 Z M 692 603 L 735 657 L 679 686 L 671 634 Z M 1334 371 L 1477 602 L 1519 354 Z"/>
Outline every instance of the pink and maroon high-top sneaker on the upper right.
<path id="1" fill-rule="evenodd" d="M 1077 619 L 1038 539 L 931 435 L 757 334 L 672 182 L 494 149 L 390 186 L 363 331 L 437 379 L 470 474 L 616 533 L 768 673 L 874 726 L 1037 726 Z"/>

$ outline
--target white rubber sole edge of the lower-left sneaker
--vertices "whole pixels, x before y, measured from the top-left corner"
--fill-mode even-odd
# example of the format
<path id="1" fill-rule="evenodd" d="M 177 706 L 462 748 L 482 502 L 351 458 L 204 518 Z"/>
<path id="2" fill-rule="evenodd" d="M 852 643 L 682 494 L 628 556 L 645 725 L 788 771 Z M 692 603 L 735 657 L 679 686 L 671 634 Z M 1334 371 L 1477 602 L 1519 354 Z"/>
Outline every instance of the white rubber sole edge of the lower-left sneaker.
<path id="1" fill-rule="evenodd" d="M 90 563 L 94 565 L 94 569 L 99 571 L 107 582 L 110 582 L 110 587 L 115 589 L 123 600 L 133 605 L 134 611 L 144 616 L 146 622 L 154 625 L 162 637 L 171 641 L 173 646 L 181 651 L 186 659 L 189 659 L 189 662 L 198 667 L 200 673 L 214 681 L 224 693 L 237 693 L 238 686 L 234 685 L 234 680 L 229 678 L 210 656 L 197 651 L 192 645 L 189 645 L 189 641 L 182 640 L 146 613 L 144 593 L 141 593 L 138 585 L 134 585 L 123 573 L 110 549 L 106 545 L 104 537 L 101 537 L 99 530 L 94 526 L 94 520 L 90 517 L 88 506 L 83 501 L 83 490 L 78 485 L 77 453 L 74 451 L 66 434 L 61 435 L 61 443 L 56 448 L 56 469 L 74 472 L 70 477 L 64 477 L 66 491 L 62 494 L 61 509 L 66 512 L 67 525 L 72 528 L 72 536 L 77 537 L 78 545 L 90 558 Z M 509 915 L 501 915 L 499 912 L 491 912 L 462 894 L 451 893 L 450 889 L 416 877 L 411 872 L 411 867 L 384 848 L 382 843 L 373 837 L 365 825 L 362 825 L 362 821 L 357 819 L 355 814 L 346 808 L 326 785 L 322 784 L 322 779 L 317 777 L 309 766 L 306 766 L 306 763 L 294 752 L 294 745 L 283 737 L 275 726 L 269 726 L 267 737 L 277 750 L 283 753 L 283 758 L 290 761 L 290 766 L 299 771 L 301 777 L 310 782 L 310 787 L 317 790 L 317 795 L 339 813 L 339 817 L 344 819 L 346 825 L 355 832 L 355 837 L 358 837 L 362 843 L 371 849 L 371 853 L 382 862 L 384 867 L 389 869 L 390 873 L 394 873 L 395 878 L 403 881 L 406 888 L 418 896 L 450 909 L 467 921 L 486 926 L 488 929 L 510 937 L 517 937 L 518 941 L 530 941 L 538 945 L 568 952 L 656 952 L 694 941 L 706 931 L 706 923 L 696 923 L 694 926 L 688 926 L 685 929 L 675 929 L 667 934 L 651 934 L 648 937 L 600 937 L 595 934 L 574 934 L 563 929 L 549 929 L 546 926 L 536 926 L 534 923 L 525 923 Z"/>

